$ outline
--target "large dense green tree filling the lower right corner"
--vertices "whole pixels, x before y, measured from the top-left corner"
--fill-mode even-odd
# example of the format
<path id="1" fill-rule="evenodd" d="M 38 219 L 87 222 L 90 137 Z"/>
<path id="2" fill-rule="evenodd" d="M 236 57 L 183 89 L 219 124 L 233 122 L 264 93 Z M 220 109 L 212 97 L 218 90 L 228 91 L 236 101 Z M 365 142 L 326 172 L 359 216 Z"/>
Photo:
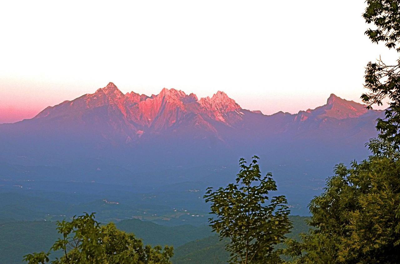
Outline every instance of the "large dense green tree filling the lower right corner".
<path id="1" fill-rule="evenodd" d="M 315 230 L 286 242 L 295 263 L 400 263 L 400 160 L 339 164 L 310 203 Z"/>

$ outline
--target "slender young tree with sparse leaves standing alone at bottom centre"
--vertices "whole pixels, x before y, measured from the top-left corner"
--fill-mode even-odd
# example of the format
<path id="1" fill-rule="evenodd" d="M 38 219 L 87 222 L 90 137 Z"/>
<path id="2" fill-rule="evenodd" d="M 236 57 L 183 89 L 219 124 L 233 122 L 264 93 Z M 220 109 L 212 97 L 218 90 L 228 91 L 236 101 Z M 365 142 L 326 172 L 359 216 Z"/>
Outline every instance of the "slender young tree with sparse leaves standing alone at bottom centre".
<path id="1" fill-rule="evenodd" d="M 268 193 L 276 191 L 272 174 L 262 178 L 257 156 L 247 166 L 240 159 L 240 172 L 236 184 L 226 188 L 207 188 L 206 202 L 211 203 L 210 226 L 220 234 L 220 239 L 229 238 L 226 249 L 231 253 L 231 263 L 281 263 L 274 245 L 284 240 L 292 227 L 288 219 L 289 210 L 285 196 L 274 196 L 269 204 Z"/>

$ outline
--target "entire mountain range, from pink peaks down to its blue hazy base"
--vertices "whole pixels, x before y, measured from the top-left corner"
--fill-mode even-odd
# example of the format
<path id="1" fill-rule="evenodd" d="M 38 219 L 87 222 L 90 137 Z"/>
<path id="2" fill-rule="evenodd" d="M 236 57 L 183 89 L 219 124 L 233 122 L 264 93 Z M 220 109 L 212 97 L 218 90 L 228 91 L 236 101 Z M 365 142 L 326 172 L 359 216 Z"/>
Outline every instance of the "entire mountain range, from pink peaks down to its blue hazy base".
<path id="1" fill-rule="evenodd" d="M 232 181 L 238 159 L 256 154 L 282 191 L 303 186 L 291 192 L 297 199 L 318 194 L 335 164 L 366 158 L 364 144 L 382 116 L 334 94 L 315 109 L 264 115 L 221 91 L 199 99 L 164 88 L 147 96 L 123 94 L 110 82 L 32 119 L 0 124 L 0 175 L 204 187 Z"/>

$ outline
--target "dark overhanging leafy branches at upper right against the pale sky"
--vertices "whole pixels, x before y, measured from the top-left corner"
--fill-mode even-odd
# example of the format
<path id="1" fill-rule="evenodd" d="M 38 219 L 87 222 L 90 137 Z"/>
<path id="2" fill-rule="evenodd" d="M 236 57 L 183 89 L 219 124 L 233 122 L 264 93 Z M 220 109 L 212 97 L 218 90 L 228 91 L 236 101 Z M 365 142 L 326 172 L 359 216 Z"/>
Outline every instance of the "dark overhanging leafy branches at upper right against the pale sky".
<path id="1" fill-rule="evenodd" d="M 384 42 L 389 49 L 400 53 L 400 0 L 367 0 L 367 8 L 362 15 L 368 24 L 374 23 L 365 34 L 374 43 Z M 379 59 L 369 62 L 365 71 L 364 87 L 369 92 L 361 98 L 372 108 L 382 105 L 385 98 L 390 99 L 385 118 L 379 118 L 376 128 L 381 132 L 379 138 L 389 142 L 397 150 L 400 146 L 400 59 L 397 64 L 388 65 Z"/>

